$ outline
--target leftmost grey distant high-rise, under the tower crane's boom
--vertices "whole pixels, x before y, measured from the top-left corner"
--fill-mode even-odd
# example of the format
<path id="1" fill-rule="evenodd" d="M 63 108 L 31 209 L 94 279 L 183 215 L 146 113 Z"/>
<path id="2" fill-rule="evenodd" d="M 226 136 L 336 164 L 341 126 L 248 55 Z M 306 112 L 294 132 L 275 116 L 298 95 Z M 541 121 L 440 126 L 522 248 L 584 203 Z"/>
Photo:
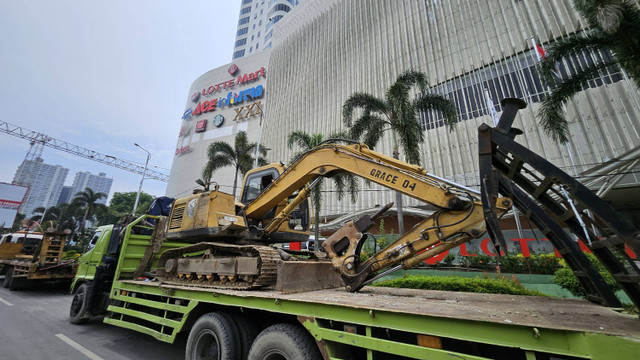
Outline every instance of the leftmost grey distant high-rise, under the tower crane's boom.
<path id="1" fill-rule="evenodd" d="M 42 158 L 23 161 L 13 177 L 14 184 L 29 186 L 20 212 L 29 217 L 37 207 L 48 208 L 56 205 L 68 173 L 69 169 L 60 165 L 45 164 Z"/>

